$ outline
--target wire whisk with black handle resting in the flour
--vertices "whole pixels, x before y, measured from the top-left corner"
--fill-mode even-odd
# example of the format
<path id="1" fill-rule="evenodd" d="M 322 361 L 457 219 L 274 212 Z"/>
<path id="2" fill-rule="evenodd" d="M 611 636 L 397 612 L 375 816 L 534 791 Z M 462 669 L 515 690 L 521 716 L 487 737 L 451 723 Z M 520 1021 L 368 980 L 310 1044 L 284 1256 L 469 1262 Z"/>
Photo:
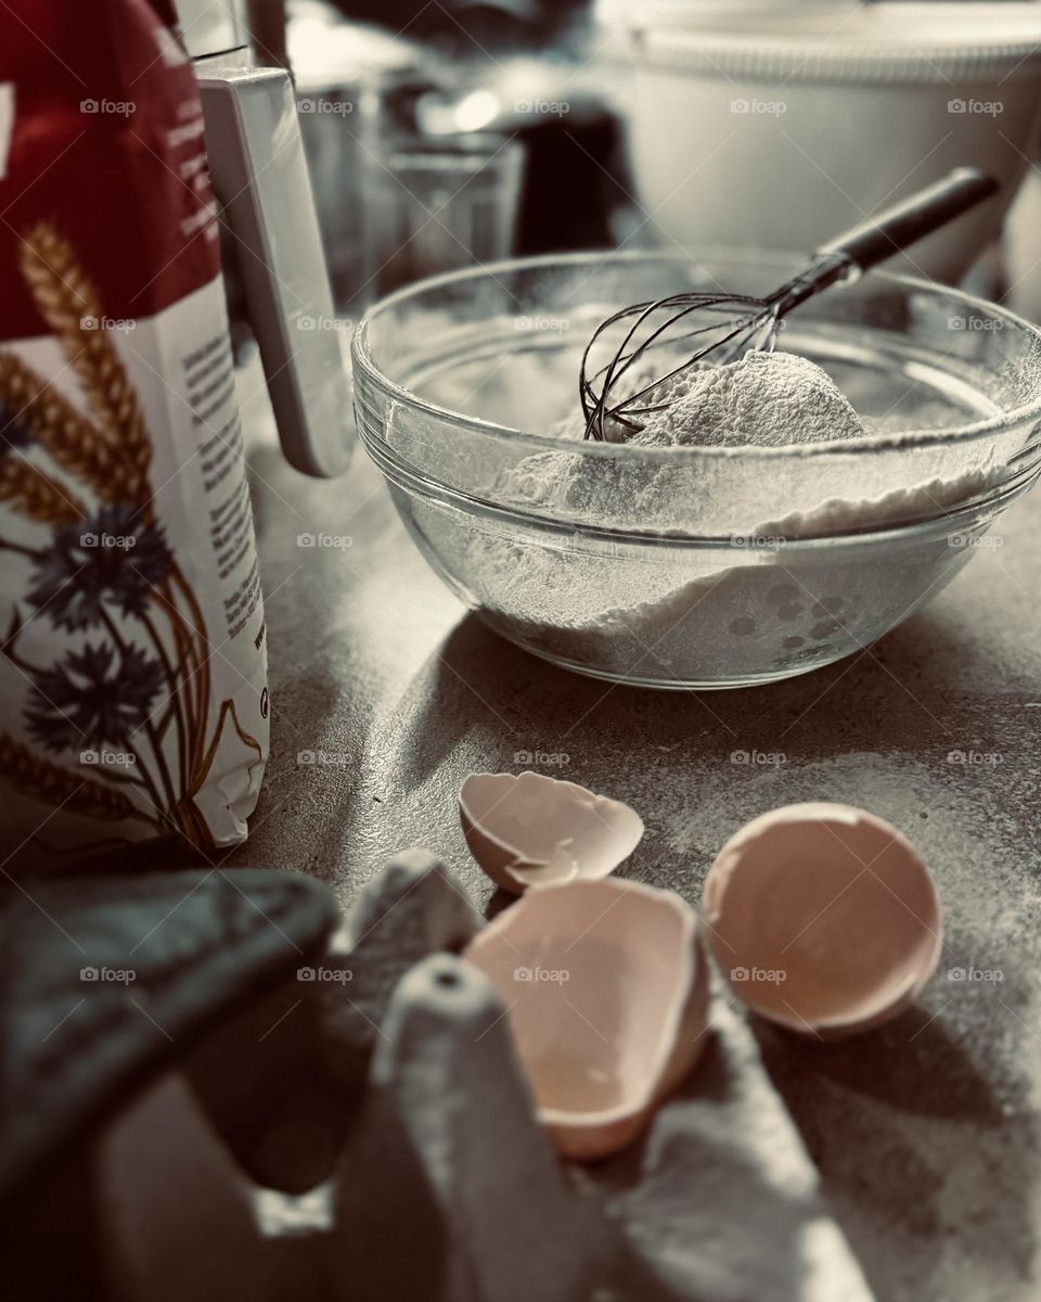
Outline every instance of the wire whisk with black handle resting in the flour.
<path id="1" fill-rule="evenodd" d="M 739 361 L 756 349 L 772 352 L 781 319 L 829 285 L 850 280 L 932 234 L 998 190 L 977 168 L 955 168 L 926 186 L 821 246 L 807 266 L 765 298 L 725 289 L 690 290 L 632 303 L 608 316 L 582 354 L 579 397 L 586 439 L 625 441 L 644 419 L 671 405 L 670 381 L 699 363 Z M 610 348 L 610 361 L 591 374 L 597 353 Z M 668 349 L 681 361 L 655 374 L 651 354 Z"/>

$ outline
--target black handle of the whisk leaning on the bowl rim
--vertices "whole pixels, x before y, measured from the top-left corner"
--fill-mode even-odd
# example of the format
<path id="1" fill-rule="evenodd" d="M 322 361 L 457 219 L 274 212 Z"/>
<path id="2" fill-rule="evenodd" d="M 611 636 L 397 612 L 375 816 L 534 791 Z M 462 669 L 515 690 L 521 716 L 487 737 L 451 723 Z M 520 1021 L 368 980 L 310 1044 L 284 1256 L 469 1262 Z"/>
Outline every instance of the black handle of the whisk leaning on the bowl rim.
<path id="1" fill-rule="evenodd" d="M 998 189 L 994 177 L 979 168 L 955 168 L 943 180 L 829 240 L 817 250 L 817 256 L 845 254 L 851 263 L 867 271 L 989 199 Z"/>

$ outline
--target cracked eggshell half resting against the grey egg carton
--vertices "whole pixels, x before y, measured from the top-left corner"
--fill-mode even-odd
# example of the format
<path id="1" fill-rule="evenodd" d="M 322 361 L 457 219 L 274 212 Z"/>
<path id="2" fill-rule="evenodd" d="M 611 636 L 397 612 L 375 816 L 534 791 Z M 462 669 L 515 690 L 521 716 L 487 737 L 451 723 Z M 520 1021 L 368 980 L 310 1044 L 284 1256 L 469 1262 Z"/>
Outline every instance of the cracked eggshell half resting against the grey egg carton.
<path id="1" fill-rule="evenodd" d="M 697 918 L 671 891 L 612 878 L 540 887 L 463 958 L 502 996 L 539 1121 L 565 1157 L 631 1143 L 708 1039 Z"/>

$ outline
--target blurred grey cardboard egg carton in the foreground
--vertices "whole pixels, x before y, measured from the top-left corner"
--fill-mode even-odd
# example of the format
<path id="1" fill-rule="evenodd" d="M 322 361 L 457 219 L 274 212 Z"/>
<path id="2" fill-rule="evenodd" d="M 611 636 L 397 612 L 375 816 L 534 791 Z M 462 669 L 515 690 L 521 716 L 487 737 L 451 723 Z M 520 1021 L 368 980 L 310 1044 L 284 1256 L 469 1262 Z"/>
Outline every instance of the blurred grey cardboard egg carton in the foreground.
<path id="1" fill-rule="evenodd" d="M 535 1121 L 501 999 L 455 957 L 479 924 L 437 861 L 399 855 L 362 892 L 320 969 L 138 1099 L 92 1165 L 113 1293 L 872 1297 L 755 1039 L 720 991 L 712 1043 L 644 1139 L 571 1167 Z M 215 1082 L 237 1069 L 221 1098 Z M 251 1100 L 260 1120 L 243 1144 L 229 1118 Z"/>

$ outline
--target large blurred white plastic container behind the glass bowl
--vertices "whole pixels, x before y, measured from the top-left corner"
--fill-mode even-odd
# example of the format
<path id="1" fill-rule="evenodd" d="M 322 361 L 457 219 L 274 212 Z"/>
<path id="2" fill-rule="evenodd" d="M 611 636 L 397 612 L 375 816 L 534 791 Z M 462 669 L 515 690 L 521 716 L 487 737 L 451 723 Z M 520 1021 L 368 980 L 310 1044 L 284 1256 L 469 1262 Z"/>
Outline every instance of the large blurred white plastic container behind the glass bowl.
<path id="1" fill-rule="evenodd" d="M 809 250 L 953 167 L 1003 194 L 894 270 L 959 280 L 999 229 L 1041 109 L 1036 3 L 613 4 L 638 197 L 661 241 Z"/>

